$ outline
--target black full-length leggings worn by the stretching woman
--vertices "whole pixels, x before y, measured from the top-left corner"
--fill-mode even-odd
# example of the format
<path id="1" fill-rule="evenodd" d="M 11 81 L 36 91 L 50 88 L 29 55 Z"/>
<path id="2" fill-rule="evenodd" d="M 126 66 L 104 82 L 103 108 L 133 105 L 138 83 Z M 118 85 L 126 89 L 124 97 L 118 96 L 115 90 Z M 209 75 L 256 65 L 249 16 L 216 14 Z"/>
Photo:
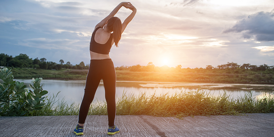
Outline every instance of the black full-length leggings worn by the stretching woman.
<path id="1" fill-rule="evenodd" d="M 100 80 L 103 79 L 107 101 L 108 125 L 114 126 L 116 115 L 115 88 L 116 72 L 111 59 L 90 60 L 89 72 L 86 79 L 85 94 L 82 100 L 78 123 L 84 124 L 89 107 L 94 99 Z"/>

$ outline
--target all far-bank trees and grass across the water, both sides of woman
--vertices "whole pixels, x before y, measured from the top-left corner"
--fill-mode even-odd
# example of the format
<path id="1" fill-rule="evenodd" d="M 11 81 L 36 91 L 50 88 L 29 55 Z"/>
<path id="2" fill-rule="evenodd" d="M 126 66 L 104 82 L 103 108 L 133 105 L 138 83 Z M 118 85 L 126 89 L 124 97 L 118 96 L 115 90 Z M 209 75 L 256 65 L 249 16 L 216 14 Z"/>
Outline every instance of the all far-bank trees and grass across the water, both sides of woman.
<path id="1" fill-rule="evenodd" d="M 15 62 L 21 62 L 21 65 Z M 11 68 L 15 79 L 42 77 L 43 79 L 85 80 L 89 67 L 85 66 L 84 62 L 73 66 L 69 62 L 63 64 L 63 60 L 57 64 L 46 62 L 45 58 L 32 60 L 26 54 L 20 54 L 14 58 L 7 54 L 0 54 L 0 66 L 7 66 L 7 63 L 8 66 L 13 66 Z M 228 62 L 217 67 L 207 65 L 206 68 L 182 68 L 181 65 L 159 67 L 149 62 L 147 66 L 120 66 L 115 69 L 116 79 L 125 81 L 274 84 L 274 66 L 267 64 L 257 66 Z"/>

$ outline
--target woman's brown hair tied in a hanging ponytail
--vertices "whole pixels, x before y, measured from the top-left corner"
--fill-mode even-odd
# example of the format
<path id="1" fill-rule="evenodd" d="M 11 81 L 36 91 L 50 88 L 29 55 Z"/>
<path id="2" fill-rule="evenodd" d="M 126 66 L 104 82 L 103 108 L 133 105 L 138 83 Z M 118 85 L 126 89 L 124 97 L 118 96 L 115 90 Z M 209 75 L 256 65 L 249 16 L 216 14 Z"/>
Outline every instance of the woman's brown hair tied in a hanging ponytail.
<path id="1" fill-rule="evenodd" d="M 118 17 L 111 17 L 107 21 L 107 29 L 109 32 L 113 32 L 113 38 L 115 46 L 118 47 L 118 43 L 122 35 L 122 22 Z"/>

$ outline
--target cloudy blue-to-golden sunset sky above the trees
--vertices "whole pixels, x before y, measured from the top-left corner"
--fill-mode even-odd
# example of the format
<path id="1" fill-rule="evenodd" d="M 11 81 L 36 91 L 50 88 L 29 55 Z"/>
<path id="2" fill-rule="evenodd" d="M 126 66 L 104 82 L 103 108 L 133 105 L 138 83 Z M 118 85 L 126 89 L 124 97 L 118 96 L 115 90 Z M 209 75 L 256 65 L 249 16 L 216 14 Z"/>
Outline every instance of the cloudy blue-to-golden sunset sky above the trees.
<path id="1" fill-rule="evenodd" d="M 0 53 L 89 64 L 96 24 L 118 0 L 1 0 Z M 117 66 L 274 65 L 273 0 L 134 0 L 110 57 Z M 115 15 L 124 19 L 131 10 Z"/>

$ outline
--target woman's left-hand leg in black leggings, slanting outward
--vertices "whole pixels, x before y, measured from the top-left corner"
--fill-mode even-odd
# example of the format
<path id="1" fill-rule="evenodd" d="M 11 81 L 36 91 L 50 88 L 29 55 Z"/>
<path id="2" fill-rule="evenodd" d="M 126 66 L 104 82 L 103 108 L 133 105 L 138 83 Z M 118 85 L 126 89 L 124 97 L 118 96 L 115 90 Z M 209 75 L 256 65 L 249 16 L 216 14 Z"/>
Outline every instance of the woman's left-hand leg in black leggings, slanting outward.
<path id="1" fill-rule="evenodd" d="M 85 85 L 85 94 L 84 94 L 84 97 L 80 106 L 80 111 L 79 111 L 78 123 L 80 126 L 84 125 L 85 123 L 85 119 L 89 112 L 90 104 L 94 99 L 95 92 L 100 83 L 101 77 L 99 72 L 100 72 L 100 68 L 98 68 L 98 65 L 96 63 L 90 63 L 89 72 L 87 75 L 86 85 Z"/>

